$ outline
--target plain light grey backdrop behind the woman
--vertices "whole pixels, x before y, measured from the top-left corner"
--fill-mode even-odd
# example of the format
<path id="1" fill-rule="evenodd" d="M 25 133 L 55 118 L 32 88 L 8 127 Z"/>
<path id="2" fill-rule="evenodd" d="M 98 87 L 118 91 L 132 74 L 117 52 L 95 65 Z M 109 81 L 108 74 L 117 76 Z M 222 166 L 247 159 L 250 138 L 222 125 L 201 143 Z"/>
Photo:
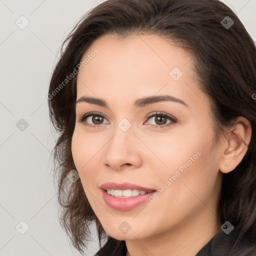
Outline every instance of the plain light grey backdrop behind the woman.
<path id="1" fill-rule="evenodd" d="M 47 89 L 61 42 L 100 2 L 0 0 L 0 256 L 80 255 L 57 218 Z M 223 2 L 256 40 L 256 0 Z"/>

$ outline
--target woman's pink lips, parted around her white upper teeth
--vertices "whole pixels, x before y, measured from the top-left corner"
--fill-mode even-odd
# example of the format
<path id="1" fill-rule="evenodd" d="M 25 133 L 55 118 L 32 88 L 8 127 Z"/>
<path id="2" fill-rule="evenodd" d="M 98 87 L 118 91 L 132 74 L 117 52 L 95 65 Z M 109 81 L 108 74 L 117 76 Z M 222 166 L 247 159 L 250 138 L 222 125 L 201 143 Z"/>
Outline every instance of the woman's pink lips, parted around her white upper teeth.
<path id="1" fill-rule="evenodd" d="M 105 203 L 116 210 L 121 210 L 121 211 L 126 211 L 126 210 L 131 210 L 138 205 L 148 202 L 149 197 L 155 192 L 154 188 L 146 188 L 142 187 L 136 184 L 124 182 L 121 184 L 115 183 L 115 182 L 108 182 L 104 183 L 100 186 L 102 190 L 102 197 L 105 201 Z M 136 196 L 131 196 L 127 198 L 121 198 L 121 197 L 114 197 L 106 192 L 106 189 L 120 189 L 120 190 L 125 190 L 125 189 L 137 189 L 137 190 L 144 190 L 147 191 L 147 194 L 139 194 Z"/>

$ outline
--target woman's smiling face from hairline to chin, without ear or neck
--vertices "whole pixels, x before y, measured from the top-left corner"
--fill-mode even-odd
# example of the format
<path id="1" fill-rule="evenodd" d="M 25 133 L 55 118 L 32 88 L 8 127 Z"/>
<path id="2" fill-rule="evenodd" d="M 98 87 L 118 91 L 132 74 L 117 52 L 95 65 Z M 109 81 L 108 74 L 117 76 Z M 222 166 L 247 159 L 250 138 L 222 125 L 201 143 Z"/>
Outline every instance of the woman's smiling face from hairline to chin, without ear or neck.
<path id="1" fill-rule="evenodd" d="M 105 231 L 126 240 L 215 225 L 220 152 L 192 55 L 156 35 L 105 35 L 85 58 L 72 156 Z"/>

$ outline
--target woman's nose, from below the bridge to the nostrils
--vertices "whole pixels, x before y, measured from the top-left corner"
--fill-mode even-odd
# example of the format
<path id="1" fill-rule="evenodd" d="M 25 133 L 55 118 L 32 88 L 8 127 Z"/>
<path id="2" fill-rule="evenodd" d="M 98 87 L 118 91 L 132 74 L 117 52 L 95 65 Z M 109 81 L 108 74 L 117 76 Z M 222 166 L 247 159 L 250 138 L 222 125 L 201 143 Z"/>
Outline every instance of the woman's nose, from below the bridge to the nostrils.
<path id="1" fill-rule="evenodd" d="M 132 126 L 123 131 L 118 126 L 114 129 L 114 135 L 105 145 L 103 164 L 114 170 L 123 168 L 137 168 L 141 164 L 139 140 L 134 135 Z"/>

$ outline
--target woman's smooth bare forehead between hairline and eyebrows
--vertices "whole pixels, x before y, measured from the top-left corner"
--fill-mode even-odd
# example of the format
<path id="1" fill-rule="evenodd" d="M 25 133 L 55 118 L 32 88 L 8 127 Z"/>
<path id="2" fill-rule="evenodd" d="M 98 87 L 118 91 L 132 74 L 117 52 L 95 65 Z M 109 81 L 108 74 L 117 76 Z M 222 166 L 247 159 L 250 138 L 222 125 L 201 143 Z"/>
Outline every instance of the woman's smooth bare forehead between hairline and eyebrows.
<path id="1" fill-rule="evenodd" d="M 193 79 L 191 53 L 157 35 L 104 35 L 90 45 L 82 60 L 85 58 L 86 64 L 78 72 L 77 98 L 106 95 L 116 101 L 118 96 L 124 102 L 168 93 L 180 98 L 189 95 L 187 101 L 191 101 L 200 93 Z"/>

